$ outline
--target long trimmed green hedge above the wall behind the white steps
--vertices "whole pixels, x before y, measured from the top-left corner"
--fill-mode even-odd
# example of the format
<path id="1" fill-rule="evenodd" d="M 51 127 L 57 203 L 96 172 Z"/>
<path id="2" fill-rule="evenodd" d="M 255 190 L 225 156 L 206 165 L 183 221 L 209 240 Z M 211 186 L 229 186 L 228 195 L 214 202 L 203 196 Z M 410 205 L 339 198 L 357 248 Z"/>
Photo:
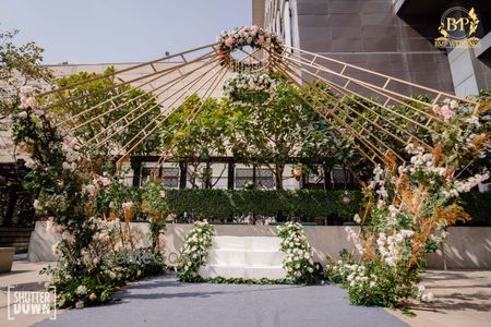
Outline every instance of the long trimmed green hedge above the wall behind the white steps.
<path id="1" fill-rule="evenodd" d="M 344 204 L 348 196 L 350 203 Z M 272 217 L 296 216 L 304 221 L 335 216 L 350 221 L 359 211 L 362 194 L 359 191 L 230 191 L 230 190 L 169 190 L 167 203 L 175 214 L 188 213 L 196 218 L 227 220 L 233 216 L 255 214 Z"/>

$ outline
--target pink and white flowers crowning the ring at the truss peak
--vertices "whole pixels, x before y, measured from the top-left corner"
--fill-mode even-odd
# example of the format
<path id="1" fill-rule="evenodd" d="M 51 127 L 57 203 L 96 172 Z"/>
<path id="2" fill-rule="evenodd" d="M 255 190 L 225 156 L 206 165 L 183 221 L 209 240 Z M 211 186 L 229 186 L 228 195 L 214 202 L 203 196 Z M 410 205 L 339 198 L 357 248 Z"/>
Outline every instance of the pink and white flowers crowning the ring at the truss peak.
<path id="1" fill-rule="evenodd" d="M 230 63 L 231 51 L 243 47 L 271 49 L 276 53 L 282 53 L 285 48 L 282 38 L 277 34 L 266 32 L 256 25 L 221 31 L 217 40 L 219 43 L 218 56 L 223 65 Z"/>

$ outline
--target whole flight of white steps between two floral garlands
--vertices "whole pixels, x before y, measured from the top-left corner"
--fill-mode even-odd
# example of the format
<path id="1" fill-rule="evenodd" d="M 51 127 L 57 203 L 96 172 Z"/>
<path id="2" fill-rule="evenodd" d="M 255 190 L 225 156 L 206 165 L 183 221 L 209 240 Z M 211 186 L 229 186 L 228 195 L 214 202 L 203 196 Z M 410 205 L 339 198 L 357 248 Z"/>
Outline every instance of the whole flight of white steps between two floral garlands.
<path id="1" fill-rule="evenodd" d="M 279 243 L 279 238 L 270 237 L 214 237 L 207 263 L 197 274 L 203 278 L 285 278 Z"/>

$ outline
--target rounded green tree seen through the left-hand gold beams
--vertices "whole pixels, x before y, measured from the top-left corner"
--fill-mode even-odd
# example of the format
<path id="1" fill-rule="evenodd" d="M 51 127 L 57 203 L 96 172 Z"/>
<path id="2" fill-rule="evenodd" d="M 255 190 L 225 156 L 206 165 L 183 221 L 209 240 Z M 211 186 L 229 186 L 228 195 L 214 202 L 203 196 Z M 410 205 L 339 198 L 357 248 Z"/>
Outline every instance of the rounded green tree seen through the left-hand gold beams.
<path id="1" fill-rule="evenodd" d="M 75 116 L 97 106 L 95 110 L 91 110 L 75 119 L 73 122 L 74 126 L 86 123 L 74 131 L 75 136 L 88 141 L 99 135 L 98 140 L 101 141 L 110 136 L 108 132 L 104 131 L 113 130 L 117 132 L 115 136 L 107 140 L 103 150 L 97 153 L 98 156 L 100 154 L 109 154 L 115 147 L 125 145 L 145 126 L 148 125 L 148 129 L 152 128 L 156 123 L 155 118 L 160 113 L 160 106 L 152 93 L 145 94 L 140 88 L 131 89 L 132 86 L 130 84 L 107 89 L 116 83 L 120 83 L 110 75 L 112 72 L 115 72 L 115 68 L 109 66 L 103 74 L 80 72 L 57 81 L 59 87 L 81 83 L 79 86 L 64 90 L 63 96 L 76 98 L 82 95 L 92 94 L 89 97 L 84 97 L 53 108 L 59 118 Z M 99 76 L 106 77 L 83 83 L 84 81 Z M 57 95 L 56 100 L 62 100 Z M 118 109 L 112 110 L 116 107 Z M 104 116 L 95 119 L 100 114 Z M 124 118 L 128 122 L 134 121 L 127 125 Z M 158 135 L 149 135 L 134 149 L 134 154 L 153 153 L 159 146 L 159 141 Z"/>

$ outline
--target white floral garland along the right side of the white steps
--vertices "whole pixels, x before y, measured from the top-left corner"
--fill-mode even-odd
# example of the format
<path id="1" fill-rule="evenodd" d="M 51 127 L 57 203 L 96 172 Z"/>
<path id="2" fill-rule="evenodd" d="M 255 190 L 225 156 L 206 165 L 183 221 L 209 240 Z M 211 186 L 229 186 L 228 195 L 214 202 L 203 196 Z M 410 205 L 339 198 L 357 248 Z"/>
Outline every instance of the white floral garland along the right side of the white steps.
<path id="1" fill-rule="evenodd" d="M 283 266 L 287 271 L 287 279 L 296 283 L 312 282 L 314 263 L 303 227 L 298 222 L 287 222 L 277 229 L 282 251 L 286 254 Z"/>

